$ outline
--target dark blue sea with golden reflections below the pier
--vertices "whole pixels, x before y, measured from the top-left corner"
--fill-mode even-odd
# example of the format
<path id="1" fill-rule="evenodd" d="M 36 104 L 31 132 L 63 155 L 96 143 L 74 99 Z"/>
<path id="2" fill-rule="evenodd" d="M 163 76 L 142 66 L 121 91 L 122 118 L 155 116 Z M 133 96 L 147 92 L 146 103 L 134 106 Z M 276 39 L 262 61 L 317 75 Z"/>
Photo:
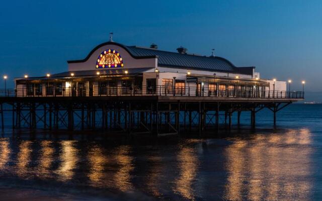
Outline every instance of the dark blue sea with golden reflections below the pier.
<path id="1" fill-rule="evenodd" d="M 0 199 L 321 200 L 322 105 L 286 107 L 275 131 L 272 117 L 262 110 L 255 131 L 203 139 L 6 130 Z"/>

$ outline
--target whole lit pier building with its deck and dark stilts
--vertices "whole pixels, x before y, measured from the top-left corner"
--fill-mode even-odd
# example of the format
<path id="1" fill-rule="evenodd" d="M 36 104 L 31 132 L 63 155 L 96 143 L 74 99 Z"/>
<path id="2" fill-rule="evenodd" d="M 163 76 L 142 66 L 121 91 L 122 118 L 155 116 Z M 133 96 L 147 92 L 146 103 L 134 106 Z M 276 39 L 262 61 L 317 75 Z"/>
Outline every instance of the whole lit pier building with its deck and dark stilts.
<path id="1" fill-rule="evenodd" d="M 244 111 L 255 127 L 263 108 L 273 112 L 276 125 L 279 110 L 304 98 L 303 91 L 287 91 L 286 81 L 262 78 L 254 66 L 184 47 L 163 51 L 110 40 L 67 63 L 65 72 L 25 75 L 15 79 L 15 89 L 2 91 L 1 104 L 12 105 L 13 128 L 41 123 L 44 129 L 202 133 L 218 131 L 221 116 L 224 128 L 231 128 L 233 114 L 239 125 Z"/>

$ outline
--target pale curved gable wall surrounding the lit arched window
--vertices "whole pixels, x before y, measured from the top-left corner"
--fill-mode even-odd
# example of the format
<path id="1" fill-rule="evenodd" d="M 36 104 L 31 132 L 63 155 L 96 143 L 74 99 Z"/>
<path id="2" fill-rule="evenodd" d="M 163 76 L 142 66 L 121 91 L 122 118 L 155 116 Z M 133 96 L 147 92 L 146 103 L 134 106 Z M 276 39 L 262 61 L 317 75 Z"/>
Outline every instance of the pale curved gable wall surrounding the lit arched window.
<path id="1" fill-rule="evenodd" d="M 148 59 L 135 59 L 133 58 L 124 48 L 117 45 L 105 45 L 97 49 L 90 58 L 82 63 L 68 63 L 68 71 L 77 71 L 77 70 L 95 70 L 96 62 L 98 57 L 107 49 L 113 49 L 120 53 L 120 56 L 123 60 L 123 68 L 144 68 L 144 67 L 156 67 L 157 58 L 148 58 Z M 107 67 L 108 68 L 108 67 Z M 114 67 L 121 68 L 121 67 Z M 99 68 L 105 69 L 105 68 Z M 98 69 L 98 70 L 99 70 Z"/>

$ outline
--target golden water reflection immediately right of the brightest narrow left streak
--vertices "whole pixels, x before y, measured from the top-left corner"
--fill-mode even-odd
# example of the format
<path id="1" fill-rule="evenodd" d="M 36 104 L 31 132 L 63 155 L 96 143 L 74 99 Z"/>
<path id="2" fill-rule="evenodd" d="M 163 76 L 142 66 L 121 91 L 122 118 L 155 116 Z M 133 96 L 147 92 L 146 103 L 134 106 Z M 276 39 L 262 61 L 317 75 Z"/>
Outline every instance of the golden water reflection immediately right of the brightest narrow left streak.
<path id="1" fill-rule="evenodd" d="M 92 185 L 99 187 L 100 181 L 104 179 L 104 167 L 107 164 L 107 156 L 104 155 L 103 149 L 95 145 L 88 153 L 90 171 L 88 173 Z"/>

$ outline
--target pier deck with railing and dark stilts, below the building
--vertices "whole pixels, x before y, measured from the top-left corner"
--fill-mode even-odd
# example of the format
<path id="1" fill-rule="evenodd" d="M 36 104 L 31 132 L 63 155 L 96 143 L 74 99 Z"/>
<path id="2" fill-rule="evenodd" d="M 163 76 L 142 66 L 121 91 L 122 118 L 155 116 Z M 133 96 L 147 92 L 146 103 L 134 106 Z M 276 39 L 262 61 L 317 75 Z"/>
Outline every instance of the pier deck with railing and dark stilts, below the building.
<path id="1" fill-rule="evenodd" d="M 122 94 L 122 87 L 115 93 L 87 96 L 90 88 L 77 90 L 71 96 L 28 95 L 20 90 L 1 90 L 1 123 L 5 129 L 4 116 L 12 114 L 12 129 L 44 130 L 98 130 L 128 135 L 147 134 L 153 136 L 177 135 L 183 133 L 217 133 L 220 129 L 232 128 L 232 115 L 237 116 L 240 125 L 241 113 L 251 117 L 251 128 L 256 127 L 256 113 L 264 108 L 273 116 L 291 103 L 304 98 L 302 91 L 246 91 L 216 90 L 198 92 L 196 87 L 173 88 L 172 93 L 162 93 L 163 86 L 147 94 L 129 89 Z M 96 88 L 106 90 L 106 88 Z M 110 89 L 107 89 L 110 90 Z M 185 93 L 182 91 L 185 90 Z M 176 93 L 177 92 L 177 93 Z M 27 94 L 20 96 L 19 94 Z M 219 120 L 223 121 L 219 121 Z"/>

